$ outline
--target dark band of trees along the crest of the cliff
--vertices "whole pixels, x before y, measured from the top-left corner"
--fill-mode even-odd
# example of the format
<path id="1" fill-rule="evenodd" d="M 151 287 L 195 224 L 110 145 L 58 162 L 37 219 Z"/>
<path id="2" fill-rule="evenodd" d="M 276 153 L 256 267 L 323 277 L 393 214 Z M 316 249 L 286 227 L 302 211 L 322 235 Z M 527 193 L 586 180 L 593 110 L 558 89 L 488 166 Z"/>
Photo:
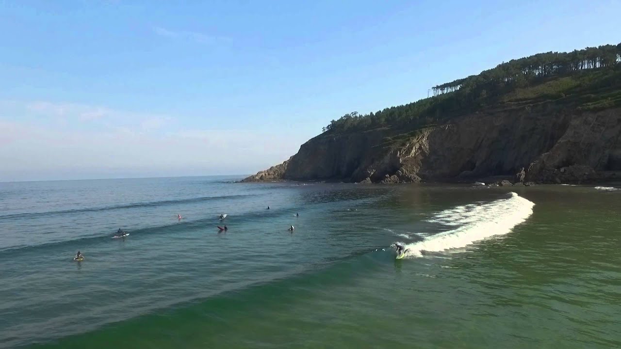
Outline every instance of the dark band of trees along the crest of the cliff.
<path id="1" fill-rule="evenodd" d="M 527 88 L 554 76 L 593 70 L 604 71 L 604 75 L 610 72 L 613 82 L 616 82 L 621 71 L 621 43 L 573 52 L 538 53 L 510 60 L 479 75 L 433 86 L 433 97 L 364 115 L 358 112 L 345 114 L 338 120 L 332 120 L 324 127 L 324 132 L 350 132 L 388 125 L 420 127 L 437 124 L 445 121 L 453 111 L 473 111 L 515 89 Z M 600 80 L 606 81 L 605 76 Z"/>

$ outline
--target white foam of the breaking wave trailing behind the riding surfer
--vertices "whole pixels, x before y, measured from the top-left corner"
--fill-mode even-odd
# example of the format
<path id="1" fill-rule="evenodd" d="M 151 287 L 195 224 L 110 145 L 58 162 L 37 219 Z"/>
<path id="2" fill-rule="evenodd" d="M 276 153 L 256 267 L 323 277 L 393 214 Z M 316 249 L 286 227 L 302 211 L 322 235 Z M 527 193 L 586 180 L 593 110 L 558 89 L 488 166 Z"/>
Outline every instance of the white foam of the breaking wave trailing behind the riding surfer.
<path id="1" fill-rule="evenodd" d="M 406 256 L 420 257 L 422 252 L 441 252 L 466 247 L 472 243 L 509 233 L 515 225 L 533 213 L 533 202 L 510 193 L 509 199 L 500 199 L 481 205 L 458 206 L 438 212 L 428 222 L 459 226 L 456 229 L 406 245 Z"/>

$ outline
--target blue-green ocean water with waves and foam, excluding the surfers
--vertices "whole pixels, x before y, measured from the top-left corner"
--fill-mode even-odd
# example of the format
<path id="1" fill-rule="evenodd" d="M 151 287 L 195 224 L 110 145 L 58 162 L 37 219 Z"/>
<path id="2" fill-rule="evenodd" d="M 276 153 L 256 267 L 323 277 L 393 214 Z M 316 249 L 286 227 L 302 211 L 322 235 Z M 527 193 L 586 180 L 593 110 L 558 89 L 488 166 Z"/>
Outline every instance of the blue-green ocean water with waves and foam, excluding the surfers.
<path id="1" fill-rule="evenodd" d="M 0 348 L 621 347 L 615 186 L 238 179 L 0 183 Z"/>

